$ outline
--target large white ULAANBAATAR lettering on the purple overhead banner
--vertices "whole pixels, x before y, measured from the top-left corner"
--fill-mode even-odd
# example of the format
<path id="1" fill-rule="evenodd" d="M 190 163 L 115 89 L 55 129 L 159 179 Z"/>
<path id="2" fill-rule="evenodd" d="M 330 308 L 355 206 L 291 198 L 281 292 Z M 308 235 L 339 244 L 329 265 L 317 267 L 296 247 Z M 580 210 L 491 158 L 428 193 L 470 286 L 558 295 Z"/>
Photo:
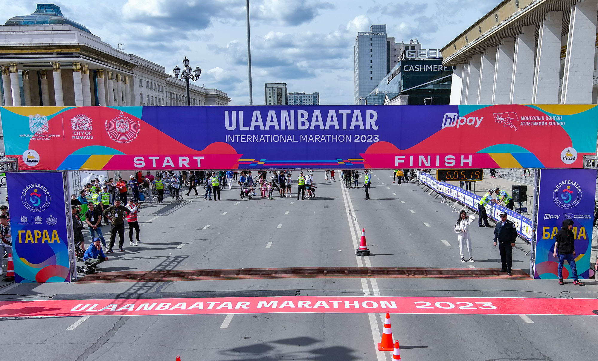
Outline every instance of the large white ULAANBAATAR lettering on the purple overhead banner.
<path id="1" fill-rule="evenodd" d="M 245 123 L 251 117 L 251 121 Z M 285 129 L 378 129 L 378 114 L 373 110 L 330 109 L 328 114 L 316 110 L 253 110 L 224 111 L 227 130 L 285 130 Z M 265 120 L 265 121 L 264 121 Z"/>

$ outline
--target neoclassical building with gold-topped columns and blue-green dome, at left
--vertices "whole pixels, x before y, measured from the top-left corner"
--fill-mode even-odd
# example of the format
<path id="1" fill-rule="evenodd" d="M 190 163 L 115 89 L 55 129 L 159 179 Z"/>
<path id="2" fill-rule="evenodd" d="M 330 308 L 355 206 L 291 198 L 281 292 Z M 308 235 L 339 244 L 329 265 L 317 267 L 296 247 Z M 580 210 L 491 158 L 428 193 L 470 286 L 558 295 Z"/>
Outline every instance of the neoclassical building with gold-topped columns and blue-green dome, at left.
<path id="1" fill-rule="evenodd" d="M 0 26 L 0 68 L 3 106 L 187 105 L 184 81 L 102 42 L 54 4 Z M 190 102 L 228 105 L 230 98 L 190 84 Z"/>

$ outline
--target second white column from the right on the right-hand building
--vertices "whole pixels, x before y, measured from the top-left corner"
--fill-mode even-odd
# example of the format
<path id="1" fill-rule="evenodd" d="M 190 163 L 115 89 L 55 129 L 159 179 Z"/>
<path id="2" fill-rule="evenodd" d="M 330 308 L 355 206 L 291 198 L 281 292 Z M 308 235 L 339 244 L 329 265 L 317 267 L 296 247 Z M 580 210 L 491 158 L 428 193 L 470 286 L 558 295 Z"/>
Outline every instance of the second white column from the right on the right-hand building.
<path id="1" fill-rule="evenodd" d="M 540 26 L 532 104 L 558 104 L 563 11 L 550 11 Z"/>

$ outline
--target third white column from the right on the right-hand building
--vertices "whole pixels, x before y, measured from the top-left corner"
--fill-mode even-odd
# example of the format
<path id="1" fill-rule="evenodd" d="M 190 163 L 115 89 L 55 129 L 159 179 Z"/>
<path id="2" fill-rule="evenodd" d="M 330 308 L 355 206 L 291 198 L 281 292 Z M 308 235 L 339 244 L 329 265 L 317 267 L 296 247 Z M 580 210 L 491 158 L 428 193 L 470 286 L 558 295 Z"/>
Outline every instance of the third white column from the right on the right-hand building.
<path id="1" fill-rule="evenodd" d="M 509 97 L 509 103 L 511 104 L 532 103 L 535 48 L 536 26 L 521 27 L 521 33 L 515 39 L 513 78 L 511 81 L 511 96 Z"/>

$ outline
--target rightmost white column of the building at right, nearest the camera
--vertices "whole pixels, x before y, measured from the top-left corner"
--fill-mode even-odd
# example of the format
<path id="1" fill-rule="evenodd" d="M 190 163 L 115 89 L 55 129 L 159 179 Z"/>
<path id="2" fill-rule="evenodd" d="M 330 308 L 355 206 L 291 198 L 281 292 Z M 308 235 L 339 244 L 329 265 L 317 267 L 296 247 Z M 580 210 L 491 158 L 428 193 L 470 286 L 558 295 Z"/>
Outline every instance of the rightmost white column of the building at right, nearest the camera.
<path id="1" fill-rule="evenodd" d="M 591 104 L 598 0 L 571 7 L 561 104 Z"/>

